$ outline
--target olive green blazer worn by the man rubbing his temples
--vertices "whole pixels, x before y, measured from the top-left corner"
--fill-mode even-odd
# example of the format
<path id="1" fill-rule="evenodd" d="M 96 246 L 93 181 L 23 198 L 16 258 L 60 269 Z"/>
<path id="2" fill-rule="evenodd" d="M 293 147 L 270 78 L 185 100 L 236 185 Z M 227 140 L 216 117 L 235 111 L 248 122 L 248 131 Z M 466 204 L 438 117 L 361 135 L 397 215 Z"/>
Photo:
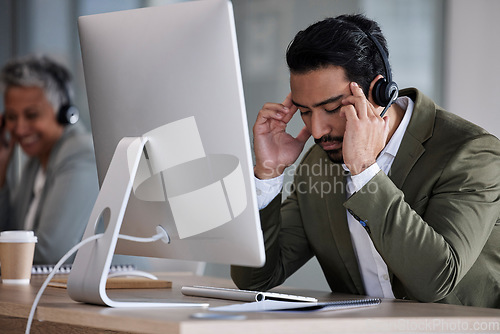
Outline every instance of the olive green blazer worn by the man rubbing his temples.
<path id="1" fill-rule="evenodd" d="M 346 200 L 342 167 L 313 146 L 289 198 L 261 210 L 266 264 L 233 266 L 238 287 L 270 289 L 316 256 L 332 291 L 365 294 L 347 209 L 366 223 L 396 298 L 500 307 L 500 141 L 415 89 L 400 95 L 415 108 L 389 175 Z"/>

